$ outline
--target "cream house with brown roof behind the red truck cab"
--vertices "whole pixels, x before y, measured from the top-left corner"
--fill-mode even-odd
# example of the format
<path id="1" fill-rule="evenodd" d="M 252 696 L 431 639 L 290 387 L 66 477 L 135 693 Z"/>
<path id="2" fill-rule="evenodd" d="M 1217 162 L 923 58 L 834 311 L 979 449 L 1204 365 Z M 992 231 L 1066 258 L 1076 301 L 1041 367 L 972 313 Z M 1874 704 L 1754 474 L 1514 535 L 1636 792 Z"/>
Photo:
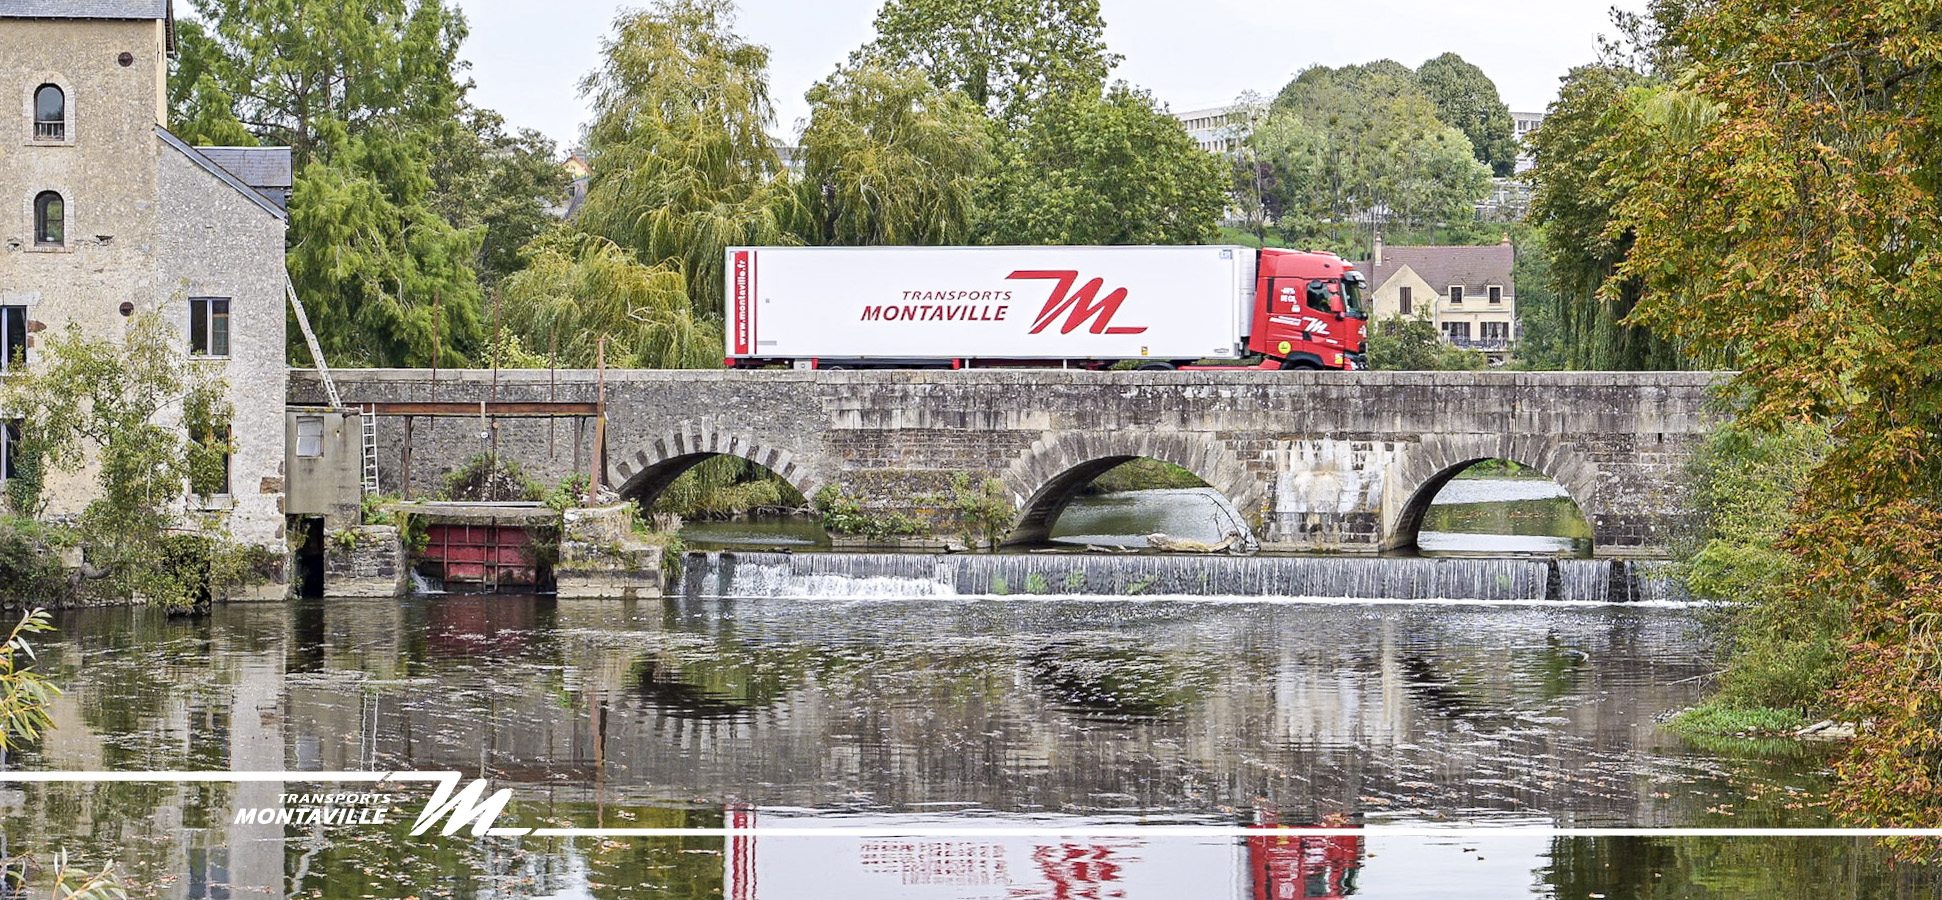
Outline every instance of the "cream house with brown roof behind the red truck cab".
<path id="1" fill-rule="evenodd" d="M 1517 340 L 1517 251 L 1490 247 L 1383 247 L 1356 270 L 1369 276 L 1371 317 L 1427 315 L 1453 344 L 1501 363 Z"/>

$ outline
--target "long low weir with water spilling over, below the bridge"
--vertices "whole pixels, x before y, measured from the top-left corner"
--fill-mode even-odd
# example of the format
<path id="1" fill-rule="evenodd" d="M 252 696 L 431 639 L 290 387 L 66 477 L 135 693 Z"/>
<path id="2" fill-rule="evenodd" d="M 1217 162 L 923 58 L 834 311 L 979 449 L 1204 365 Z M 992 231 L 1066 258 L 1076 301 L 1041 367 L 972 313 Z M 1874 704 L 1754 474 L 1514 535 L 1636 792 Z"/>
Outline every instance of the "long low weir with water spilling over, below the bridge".
<path id="1" fill-rule="evenodd" d="M 1680 599 L 1649 560 L 691 552 L 689 597 Z"/>

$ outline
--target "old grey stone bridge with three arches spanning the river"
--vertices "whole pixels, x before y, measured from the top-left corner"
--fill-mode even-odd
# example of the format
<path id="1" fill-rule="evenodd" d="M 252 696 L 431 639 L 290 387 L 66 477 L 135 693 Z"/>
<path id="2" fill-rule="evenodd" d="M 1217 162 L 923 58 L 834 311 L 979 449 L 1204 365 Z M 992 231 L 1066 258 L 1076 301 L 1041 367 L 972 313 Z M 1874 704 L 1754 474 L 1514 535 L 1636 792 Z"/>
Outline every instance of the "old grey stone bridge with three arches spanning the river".
<path id="1" fill-rule="evenodd" d="M 322 404 L 311 371 L 289 402 Z M 379 480 L 435 490 L 497 449 L 557 480 L 592 467 L 592 371 L 346 369 L 346 404 L 379 414 Z M 1008 542 L 1047 537 L 1072 496 L 1128 459 L 1198 474 L 1266 548 L 1412 546 L 1464 467 L 1509 459 L 1556 478 L 1594 552 L 1660 552 L 1676 480 L 1717 420 L 1717 373 L 1513 371 L 608 371 L 604 480 L 653 500 L 715 455 L 769 467 L 804 496 L 839 486 L 866 509 L 950 527 L 955 476 L 1000 478 Z M 930 505 L 926 505 L 930 503 Z"/>

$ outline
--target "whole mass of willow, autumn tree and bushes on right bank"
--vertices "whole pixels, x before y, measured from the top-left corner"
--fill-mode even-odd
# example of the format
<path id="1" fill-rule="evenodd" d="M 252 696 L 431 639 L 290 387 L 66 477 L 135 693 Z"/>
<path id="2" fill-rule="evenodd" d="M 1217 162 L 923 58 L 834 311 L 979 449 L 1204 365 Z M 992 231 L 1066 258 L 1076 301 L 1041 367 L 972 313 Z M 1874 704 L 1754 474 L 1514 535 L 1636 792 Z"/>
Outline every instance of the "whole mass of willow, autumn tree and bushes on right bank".
<path id="1" fill-rule="evenodd" d="M 1926 6 L 1657 0 L 1534 138 L 1569 363 L 1738 369 L 1688 583 L 1721 702 L 1858 723 L 1837 807 L 1942 814 L 1942 33 Z M 1705 488 L 1715 484 L 1717 488 Z"/>

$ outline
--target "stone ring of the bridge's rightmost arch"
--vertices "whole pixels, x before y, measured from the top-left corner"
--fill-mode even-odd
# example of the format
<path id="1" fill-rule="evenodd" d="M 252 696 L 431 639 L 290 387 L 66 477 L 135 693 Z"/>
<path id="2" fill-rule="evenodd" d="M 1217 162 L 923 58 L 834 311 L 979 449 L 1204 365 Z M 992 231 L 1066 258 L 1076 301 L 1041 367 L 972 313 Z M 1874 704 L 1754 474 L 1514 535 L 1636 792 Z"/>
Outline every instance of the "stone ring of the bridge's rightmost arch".
<path id="1" fill-rule="evenodd" d="M 1486 459 L 1507 459 L 1536 468 L 1557 482 L 1596 531 L 1598 467 L 1556 437 L 1536 435 L 1427 435 L 1402 465 L 1402 505 L 1383 537 L 1383 550 L 1412 548 L 1423 515 L 1451 478 Z M 1596 535 L 1592 537 L 1596 542 Z"/>

